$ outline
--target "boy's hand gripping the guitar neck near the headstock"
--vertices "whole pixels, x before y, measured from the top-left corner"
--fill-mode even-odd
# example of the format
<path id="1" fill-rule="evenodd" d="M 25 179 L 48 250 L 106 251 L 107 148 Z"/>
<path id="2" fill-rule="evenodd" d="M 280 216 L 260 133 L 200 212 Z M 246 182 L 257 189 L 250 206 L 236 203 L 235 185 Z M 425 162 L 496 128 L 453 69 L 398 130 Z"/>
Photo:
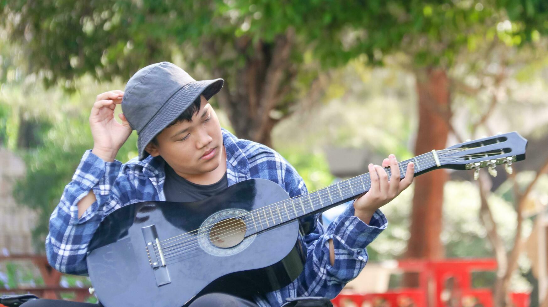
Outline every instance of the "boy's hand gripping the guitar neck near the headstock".
<path id="1" fill-rule="evenodd" d="M 390 165 L 392 173 L 390 180 L 383 167 Z M 373 213 L 380 207 L 388 204 L 396 198 L 404 189 L 413 182 L 415 168 L 413 163 L 407 165 L 406 176 L 399 179 L 398 161 L 395 155 L 389 155 L 384 159 L 383 166 L 369 164 L 371 187 L 369 191 L 354 201 L 354 215 L 363 222 L 369 223 Z"/>

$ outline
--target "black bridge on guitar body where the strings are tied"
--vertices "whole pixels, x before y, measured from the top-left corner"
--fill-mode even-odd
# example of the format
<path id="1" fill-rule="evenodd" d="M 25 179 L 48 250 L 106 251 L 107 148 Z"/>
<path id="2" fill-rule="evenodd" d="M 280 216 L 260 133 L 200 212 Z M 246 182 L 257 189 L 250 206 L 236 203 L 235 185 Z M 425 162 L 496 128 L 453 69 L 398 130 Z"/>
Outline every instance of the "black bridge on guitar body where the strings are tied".
<path id="1" fill-rule="evenodd" d="M 165 263 L 164 253 L 162 252 L 162 246 L 158 239 L 158 233 L 156 232 L 156 225 L 150 225 L 141 228 L 142 236 L 145 238 L 145 251 L 149 264 L 156 277 L 156 285 L 162 286 L 171 282 L 169 278 L 169 272 L 167 264 Z M 155 249 L 156 246 L 156 249 Z M 158 254 L 156 254 L 158 252 Z"/>

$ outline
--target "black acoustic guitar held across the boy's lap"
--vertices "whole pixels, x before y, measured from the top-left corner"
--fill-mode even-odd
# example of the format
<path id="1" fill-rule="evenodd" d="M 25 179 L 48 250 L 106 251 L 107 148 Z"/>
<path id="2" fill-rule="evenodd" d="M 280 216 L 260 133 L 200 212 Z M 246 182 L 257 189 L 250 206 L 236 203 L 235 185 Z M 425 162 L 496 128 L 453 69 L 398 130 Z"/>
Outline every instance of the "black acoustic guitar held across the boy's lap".
<path id="1" fill-rule="evenodd" d="M 527 140 L 516 132 L 432 150 L 409 162 L 415 175 L 439 169 L 475 170 L 525 159 Z M 385 167 L 390 176 L 390 168 Z M 357 198 L 369 173 L 289 198 L 266 179 L 249 179 L 196 202 L 136 202 L 106 216 L 87 254 L 90 279 L 107 306 L 179 307 L 200 294 L 238 295 L 288 285 L 301 273 L 306 248 L 298 218 Z"/>

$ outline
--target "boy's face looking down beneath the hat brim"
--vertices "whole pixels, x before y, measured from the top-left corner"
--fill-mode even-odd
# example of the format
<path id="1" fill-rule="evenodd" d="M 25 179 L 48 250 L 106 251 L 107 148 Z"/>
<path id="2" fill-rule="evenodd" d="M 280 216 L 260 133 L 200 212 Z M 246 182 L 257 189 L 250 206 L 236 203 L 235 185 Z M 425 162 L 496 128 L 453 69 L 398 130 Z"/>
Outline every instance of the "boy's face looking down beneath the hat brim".
<path id="1" fill-rule="evenodd" d="M 189 176 L 202 175 L 215 170 L 223 157 L 222 132 L 219 119 L 204 96 L 198 113 L 192 121 L 180 121 L 160 132 L 158 146 L 149 143 L 145 150 L 156 157 L 161 155 L 176 172 Z M 213 149 L 213 155 L 203 157 Z"/>

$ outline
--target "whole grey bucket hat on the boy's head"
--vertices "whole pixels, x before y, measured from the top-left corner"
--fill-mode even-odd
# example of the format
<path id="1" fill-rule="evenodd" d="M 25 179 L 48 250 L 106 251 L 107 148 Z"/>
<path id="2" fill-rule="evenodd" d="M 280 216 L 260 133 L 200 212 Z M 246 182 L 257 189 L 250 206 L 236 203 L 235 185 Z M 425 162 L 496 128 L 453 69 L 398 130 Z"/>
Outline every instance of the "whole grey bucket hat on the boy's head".
<path id="1" fill-rule="evenodd" d="M 179 117 L 199 95 L 209 100 L 222 88 L 223 79 L 196 81 L 170 62 L 139 69 L 125 85 L 122 112 L 137 130 L 139 160 L 149 153 L 145 146 Z"/>

